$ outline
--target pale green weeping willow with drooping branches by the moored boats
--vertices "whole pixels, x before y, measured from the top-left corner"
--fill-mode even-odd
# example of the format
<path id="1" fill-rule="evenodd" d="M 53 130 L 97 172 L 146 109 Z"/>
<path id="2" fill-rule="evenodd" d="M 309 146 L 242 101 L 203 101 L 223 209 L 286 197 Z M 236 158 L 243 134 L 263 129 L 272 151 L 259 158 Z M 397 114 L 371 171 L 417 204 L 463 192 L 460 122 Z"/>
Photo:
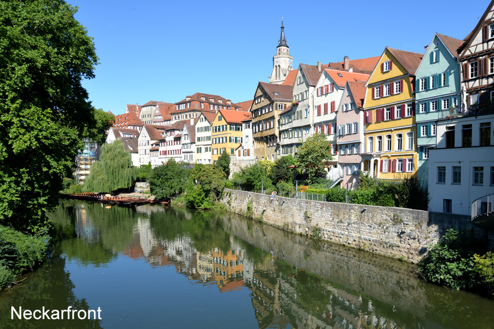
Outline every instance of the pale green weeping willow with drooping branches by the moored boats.
<path id="1" fill-rule="evenodd" d="M 137 178 L 137 168 L 132 166 L 130 153 L 120 140 L 101 147 L 100 161 L 91 165 L 84 183 L 87 192 L 114 192 L 129 188 Z"/>

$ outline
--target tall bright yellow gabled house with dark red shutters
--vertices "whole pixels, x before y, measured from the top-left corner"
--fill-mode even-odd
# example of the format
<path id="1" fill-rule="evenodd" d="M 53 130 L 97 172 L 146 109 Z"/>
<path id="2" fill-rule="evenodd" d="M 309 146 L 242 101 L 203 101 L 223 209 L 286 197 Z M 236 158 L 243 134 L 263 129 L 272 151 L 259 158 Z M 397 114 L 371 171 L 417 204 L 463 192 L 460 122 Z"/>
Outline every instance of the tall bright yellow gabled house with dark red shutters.
<path id="1" fill-rule="evenodd" d="M 415 70 L 423 54 L 386 47 L 366 83 L 364 172 L 402 180 L 418 167 Z"/>

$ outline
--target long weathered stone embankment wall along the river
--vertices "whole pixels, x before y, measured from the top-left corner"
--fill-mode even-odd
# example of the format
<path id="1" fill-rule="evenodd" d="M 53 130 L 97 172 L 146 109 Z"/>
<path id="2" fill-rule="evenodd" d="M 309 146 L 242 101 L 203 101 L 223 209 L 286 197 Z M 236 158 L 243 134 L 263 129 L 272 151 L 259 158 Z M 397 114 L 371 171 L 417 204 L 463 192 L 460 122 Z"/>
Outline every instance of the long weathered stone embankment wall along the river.
<path id="1" fill-rule="evenodd" d="M 221 200 L 237 214 L 302 235 L 417 263 L 447 229 L 474 229 L 492 247 L 494 236 L 469 216 L 394 207 L 299 200 L 225 189 Z"/>

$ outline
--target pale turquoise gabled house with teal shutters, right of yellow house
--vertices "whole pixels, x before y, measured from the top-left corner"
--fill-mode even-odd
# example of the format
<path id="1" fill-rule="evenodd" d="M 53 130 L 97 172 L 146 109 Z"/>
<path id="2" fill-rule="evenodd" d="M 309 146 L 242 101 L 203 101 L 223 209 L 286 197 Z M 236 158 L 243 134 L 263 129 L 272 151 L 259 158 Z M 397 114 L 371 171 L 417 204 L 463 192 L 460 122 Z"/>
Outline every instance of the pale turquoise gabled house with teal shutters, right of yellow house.
<path id="1" fill-rule="evenodd" d="M 436 146 L 436 121 L 455 115 L 460 106 L 461 41 L 436 33 L 415 72 L 418 179 L 428 182 L 429 148 Z"/>

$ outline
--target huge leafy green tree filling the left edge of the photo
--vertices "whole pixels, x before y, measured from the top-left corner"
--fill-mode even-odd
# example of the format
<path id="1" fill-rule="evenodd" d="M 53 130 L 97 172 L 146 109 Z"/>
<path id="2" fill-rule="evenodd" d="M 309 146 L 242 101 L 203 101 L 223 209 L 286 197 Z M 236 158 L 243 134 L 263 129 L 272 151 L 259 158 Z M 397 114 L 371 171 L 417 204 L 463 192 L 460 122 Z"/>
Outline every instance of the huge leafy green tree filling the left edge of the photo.
<path id="1" fill-rule="evenodd" d="M 0 0 L 0 223 L 25 232 L 49 225 L 91 121 L 81 81 L 98 58 L 76 12 L 63 0 Z"/>

